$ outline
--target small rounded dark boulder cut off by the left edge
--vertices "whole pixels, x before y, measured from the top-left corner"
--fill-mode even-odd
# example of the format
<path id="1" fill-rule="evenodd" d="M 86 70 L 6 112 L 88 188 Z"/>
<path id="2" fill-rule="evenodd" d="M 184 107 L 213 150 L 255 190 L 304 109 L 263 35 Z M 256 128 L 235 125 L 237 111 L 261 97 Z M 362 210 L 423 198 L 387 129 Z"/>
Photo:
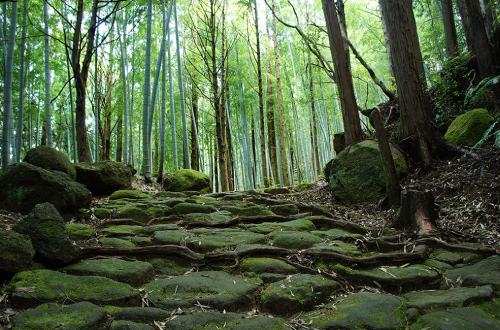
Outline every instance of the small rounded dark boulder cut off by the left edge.
<path id="1" fill-rule="evenodd" d="M 0 229 L 0 272 L 17 273 L 33 266 L 35 250 L 29 236 Z"/>

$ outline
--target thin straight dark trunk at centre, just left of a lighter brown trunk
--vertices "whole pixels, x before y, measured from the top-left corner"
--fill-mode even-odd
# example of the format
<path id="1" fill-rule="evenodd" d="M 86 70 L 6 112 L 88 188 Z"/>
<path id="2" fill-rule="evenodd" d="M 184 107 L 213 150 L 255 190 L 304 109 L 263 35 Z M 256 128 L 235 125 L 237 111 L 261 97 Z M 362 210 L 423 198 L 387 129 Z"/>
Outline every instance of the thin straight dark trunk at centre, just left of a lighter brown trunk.
<path id="1" fill-rule="evenodd" d="M 264 187 L 269 187 L 269 173 L 267 169 L 267 157 L 266 157 L 264 89 L 262 87 L 262 59 L 260 55 L 260 33 L 259 33 L 259 16 L 257 10 L 257 0 L 253 1 L 253 9 L 254 9 L 254 24 L 255 24 L 255 40 L 256 40 L 255 55 L 257 58 L 257 82 L 259 86 L 258 94 L 259 94 L 260 153 L 261 153 L 261 163 L 262 163 L 262 175 L 264 176 L 263 184 Z"/>

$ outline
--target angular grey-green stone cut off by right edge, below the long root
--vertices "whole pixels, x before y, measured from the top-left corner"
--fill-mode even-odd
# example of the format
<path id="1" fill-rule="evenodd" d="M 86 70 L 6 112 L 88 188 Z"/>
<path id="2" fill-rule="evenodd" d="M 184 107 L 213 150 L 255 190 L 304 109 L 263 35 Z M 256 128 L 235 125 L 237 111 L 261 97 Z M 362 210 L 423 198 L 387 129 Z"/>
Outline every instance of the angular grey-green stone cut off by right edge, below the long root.
<path id="1" fill-rule="evenodd" d="M 461 282 L 462 286 L 492 285 L 497 293 L 500 292 L 500 256 L 495 255 L 478 263 L 449 270 L 446 278 Z"/>

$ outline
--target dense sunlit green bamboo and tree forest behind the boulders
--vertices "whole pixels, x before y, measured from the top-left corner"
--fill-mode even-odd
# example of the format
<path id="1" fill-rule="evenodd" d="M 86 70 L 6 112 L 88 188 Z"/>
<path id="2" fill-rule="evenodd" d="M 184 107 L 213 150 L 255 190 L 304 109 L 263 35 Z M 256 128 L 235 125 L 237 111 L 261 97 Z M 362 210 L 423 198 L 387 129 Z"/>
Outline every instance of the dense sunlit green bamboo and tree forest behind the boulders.
<path id="1" fill-rule="evenodd" d="M 311 182 L 335 155 L 334 134 L 346 131 L 349 143 L 352 132 L 331 27 L 344 37 L 358 116 L 408 94 L 389 64 L 406 60 L 388 55 L 409 17 L 437 128 L 477 105 L 496 111 L 483 96 L 498 80 L 497 1 L 394 3 L 2 2 L 2 168 L 46 144 L 73 162 L 130 163 L 146 180 L 193 168 L 223 191 Z M 413 15 L 400 19 L 408 5 Z M 382 13 L 409 25 L 387 25 Z M 486 46 L 472 42 L 477 29 Z M 355 120 L 373 131 L 365 116 Z"/>

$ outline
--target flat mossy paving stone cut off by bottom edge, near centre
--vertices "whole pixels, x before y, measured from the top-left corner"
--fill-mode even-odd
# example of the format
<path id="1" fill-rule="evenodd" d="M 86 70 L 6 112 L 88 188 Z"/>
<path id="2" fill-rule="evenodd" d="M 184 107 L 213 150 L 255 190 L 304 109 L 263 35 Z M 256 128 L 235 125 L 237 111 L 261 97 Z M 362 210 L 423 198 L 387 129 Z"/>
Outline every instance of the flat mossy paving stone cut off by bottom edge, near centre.
<path id="1" fill-rule="evenodd" d="M 281 318 L 249 316 L 236 313 L 196 312 L 165 323 L 165 330 L 291 330 Z"/>

